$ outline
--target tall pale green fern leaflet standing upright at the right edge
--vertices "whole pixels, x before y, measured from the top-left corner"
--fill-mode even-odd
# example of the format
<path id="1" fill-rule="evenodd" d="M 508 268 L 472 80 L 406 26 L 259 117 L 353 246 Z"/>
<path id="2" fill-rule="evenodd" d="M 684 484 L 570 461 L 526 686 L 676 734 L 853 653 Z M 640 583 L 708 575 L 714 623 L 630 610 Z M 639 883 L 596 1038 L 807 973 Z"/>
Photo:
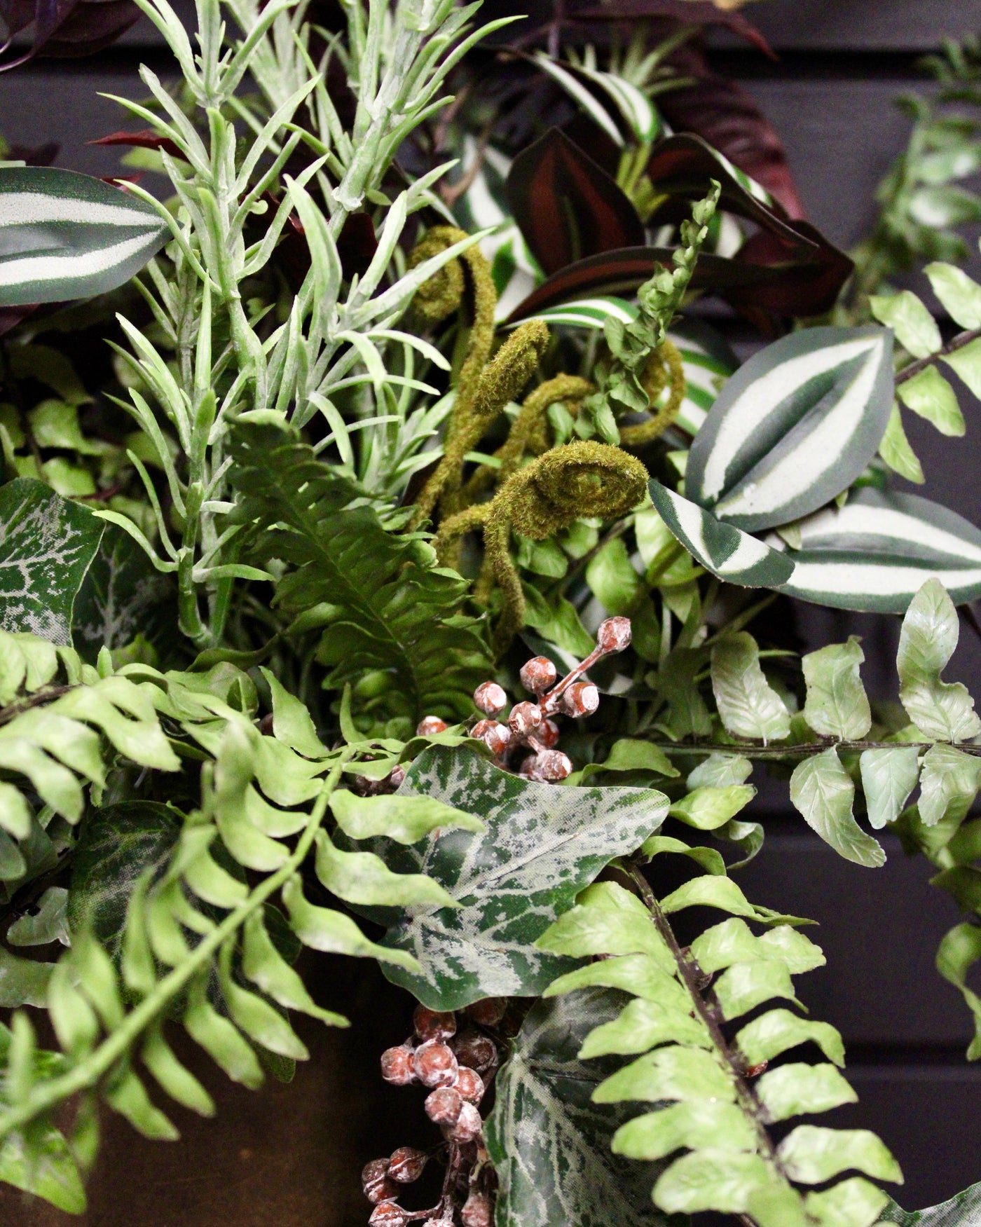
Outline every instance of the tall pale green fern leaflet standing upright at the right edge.
<path id="1" fill-rule="evenodd" d="M 981 720 L 966 688 L 960 682 L 941 680 L 959 636 L 954 602 L 939 579 L 928 579 L 903 620 L 896 667 L 900 702 L 931 741 L 966 741 L 981 733 Z"/>

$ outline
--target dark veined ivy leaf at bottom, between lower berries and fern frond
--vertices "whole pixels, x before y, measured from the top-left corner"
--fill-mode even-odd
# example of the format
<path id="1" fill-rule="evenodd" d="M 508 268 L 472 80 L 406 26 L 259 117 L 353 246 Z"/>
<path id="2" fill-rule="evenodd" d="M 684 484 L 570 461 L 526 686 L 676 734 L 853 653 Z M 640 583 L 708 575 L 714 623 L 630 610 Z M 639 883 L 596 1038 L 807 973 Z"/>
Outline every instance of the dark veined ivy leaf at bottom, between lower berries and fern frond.
<path id="1" fill-rule="evenodd" d="M 584 1061 L 585 1037 L 612 1022 L 627 995 L 586 989 L 540 1001 L 498 1074 L 486 1139 L 498 1174 L 497 1227 L 660 1227 L 651 1205 L 663 1164 L 613 1155 L 611 1139 L 633 1113 L 598 1104 L 592 1091 L 619 1064 Z"/>

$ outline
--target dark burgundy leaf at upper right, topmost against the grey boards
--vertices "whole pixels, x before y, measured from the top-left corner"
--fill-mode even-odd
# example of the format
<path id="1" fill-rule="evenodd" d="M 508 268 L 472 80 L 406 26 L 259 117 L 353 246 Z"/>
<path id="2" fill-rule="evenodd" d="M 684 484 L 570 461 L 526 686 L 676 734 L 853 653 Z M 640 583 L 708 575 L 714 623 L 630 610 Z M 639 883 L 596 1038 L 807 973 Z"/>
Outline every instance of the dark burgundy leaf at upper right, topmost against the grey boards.
<path id="1" fill-rule="evenodd" d="M 683 77 L 695 79 L 695 85 L 668 90 L 658 98 L 674 131 L 701 136 L 779 200 L 788 217 L 803 217 L 787 155 L 753 98 L 735 81 L 712 72 L 699 43 L 681 47 L 671 63 Z"/>

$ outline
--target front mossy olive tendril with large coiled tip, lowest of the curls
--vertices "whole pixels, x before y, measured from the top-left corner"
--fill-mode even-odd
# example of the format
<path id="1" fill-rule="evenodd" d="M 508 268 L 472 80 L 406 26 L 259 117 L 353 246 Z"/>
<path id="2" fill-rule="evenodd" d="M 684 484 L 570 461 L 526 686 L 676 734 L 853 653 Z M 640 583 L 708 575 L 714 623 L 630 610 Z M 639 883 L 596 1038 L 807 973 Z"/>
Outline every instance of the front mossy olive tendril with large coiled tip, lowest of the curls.
<path id="1" fill-rule="evenodd" d="M 576 440 L 511 474 L 489 503 L 443 521 L 435 540 L 440 560 L 464 534 L 483 529 L 484 567 L 504 601 L 493 633 L 498 655 L 525 625 L 525 594 L 509 550 L 511 531 L 543 541 L 582 517 L 618 519 L 641 502 L 646 490 L 647 470 L 636 456 L 607 443 Z"/>

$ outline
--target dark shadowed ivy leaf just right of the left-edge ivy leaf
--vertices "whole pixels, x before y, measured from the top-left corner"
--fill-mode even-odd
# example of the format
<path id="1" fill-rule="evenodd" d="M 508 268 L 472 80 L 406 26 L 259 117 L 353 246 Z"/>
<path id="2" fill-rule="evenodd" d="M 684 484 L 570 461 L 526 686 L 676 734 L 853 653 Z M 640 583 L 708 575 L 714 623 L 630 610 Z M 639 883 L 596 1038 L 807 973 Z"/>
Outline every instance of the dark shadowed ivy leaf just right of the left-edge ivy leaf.
<path id="1" fill-rule="evenodd" d="M 125 648 L 139 634 L 167 660 L 179 639 L 173 578 L 153 567 L 129 533 L 104 521 L 103 529 L 75 600 L 72 643 L 94 664 L 99 648 Z"/>

